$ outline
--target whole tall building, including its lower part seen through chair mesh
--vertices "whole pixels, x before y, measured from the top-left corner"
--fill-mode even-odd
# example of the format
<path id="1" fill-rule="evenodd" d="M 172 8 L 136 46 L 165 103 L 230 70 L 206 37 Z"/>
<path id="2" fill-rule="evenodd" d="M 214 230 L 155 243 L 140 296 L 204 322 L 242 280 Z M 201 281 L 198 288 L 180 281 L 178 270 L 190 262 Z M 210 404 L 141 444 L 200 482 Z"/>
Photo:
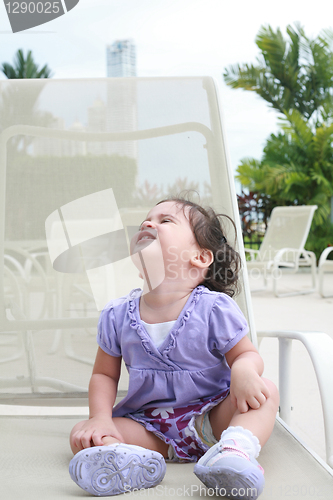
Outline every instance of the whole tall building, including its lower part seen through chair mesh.
<path id="1" fill-rule="evenodd" d="M 107 90 L 107 132 L 132 132 L 136 130 L 137 99 L 136 51 L 133 40 L 116 40 L 106 47 L 107 75 L 125 78 L 110 82 Z M 115 92 L 115 89 L 117 91 Z M 107 144 L 107 154 L 119 154 L 137 159 L 136 141 L 116 141 Z"/>

